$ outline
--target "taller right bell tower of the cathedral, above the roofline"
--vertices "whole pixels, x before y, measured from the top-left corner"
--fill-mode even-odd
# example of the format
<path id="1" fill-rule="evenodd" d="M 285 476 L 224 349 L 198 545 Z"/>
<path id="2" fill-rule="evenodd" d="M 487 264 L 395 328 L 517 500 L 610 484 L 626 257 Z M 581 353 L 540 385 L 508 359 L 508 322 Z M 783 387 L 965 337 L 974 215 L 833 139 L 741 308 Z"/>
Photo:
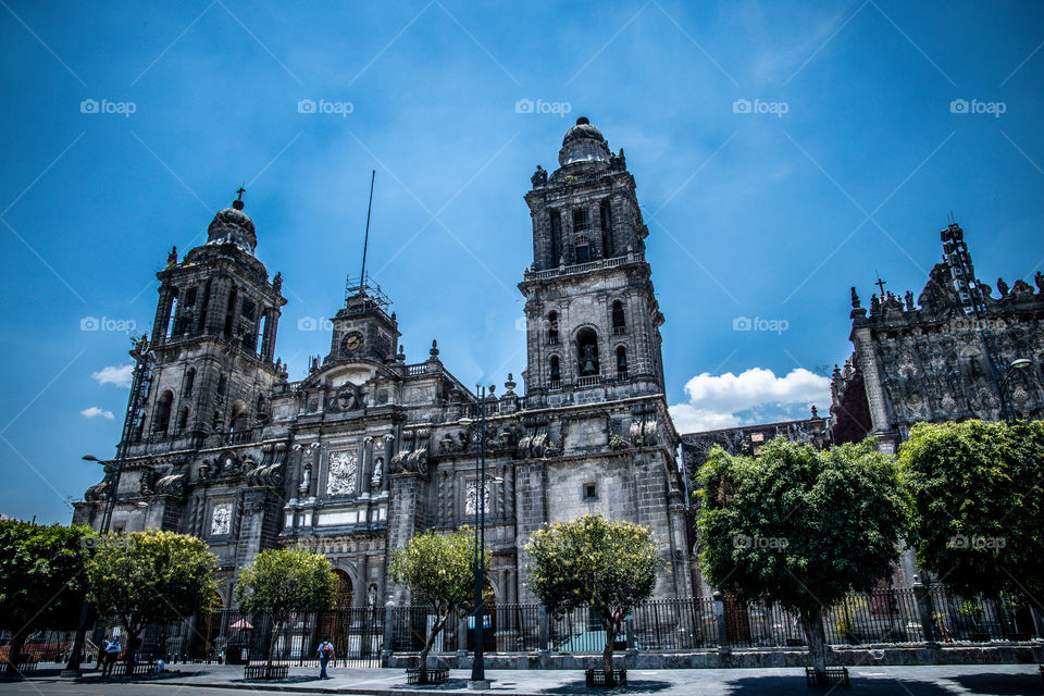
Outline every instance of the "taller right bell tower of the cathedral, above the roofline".
<path id="1" fill-rule="evenodd" d="M 648 228 L 621 149 L 585 117 L 559 169 L 537 166 L 526 298 L 526 394 L 556 406 L 663 393 L 663 315 L 645 260 Z"/>

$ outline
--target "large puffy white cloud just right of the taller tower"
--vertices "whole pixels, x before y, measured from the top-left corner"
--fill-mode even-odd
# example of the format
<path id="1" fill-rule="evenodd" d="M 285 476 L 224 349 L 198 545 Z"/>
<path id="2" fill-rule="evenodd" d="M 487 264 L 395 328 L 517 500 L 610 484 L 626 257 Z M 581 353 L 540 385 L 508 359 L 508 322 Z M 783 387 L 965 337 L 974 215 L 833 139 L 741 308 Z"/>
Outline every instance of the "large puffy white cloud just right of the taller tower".
<path id="1" fill-rule="evenodd" d="M 670 408 L 681 433 L 735 427 L 765 417 L 766 411 L 786 412 L 788 407 L 830 406 L 830 380 L 803 368 L 778 377 L 771 370 L 751 368 L 738 375 L 726 372 L 696 375 L 685 384 L 688 401 Z M 741 415 L 755 410 L 755 421 Z M 780 418 L 792 418 L 781 414 Z"/>

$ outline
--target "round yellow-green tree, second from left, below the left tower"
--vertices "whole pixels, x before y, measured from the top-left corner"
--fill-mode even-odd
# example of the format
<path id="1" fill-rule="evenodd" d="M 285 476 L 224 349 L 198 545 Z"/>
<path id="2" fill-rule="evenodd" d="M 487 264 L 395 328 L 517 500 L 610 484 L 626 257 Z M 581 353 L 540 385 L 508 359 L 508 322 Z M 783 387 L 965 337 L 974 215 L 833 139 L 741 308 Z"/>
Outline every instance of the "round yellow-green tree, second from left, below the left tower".
<path id="1" fill-rule="evenodd" d="M 195 536 L 151 530 L 109 534 L 87 566 L 90 599 L 100 616 L 127 632 L 127 671 L 141 632 L 213 607 L 217 558 Z"/>

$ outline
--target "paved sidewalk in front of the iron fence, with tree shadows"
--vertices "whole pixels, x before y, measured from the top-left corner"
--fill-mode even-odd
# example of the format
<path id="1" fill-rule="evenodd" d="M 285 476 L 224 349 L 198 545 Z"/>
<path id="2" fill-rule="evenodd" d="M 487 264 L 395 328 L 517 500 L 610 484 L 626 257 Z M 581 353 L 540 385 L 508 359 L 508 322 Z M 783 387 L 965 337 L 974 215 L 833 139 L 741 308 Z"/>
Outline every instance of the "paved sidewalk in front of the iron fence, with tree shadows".
<path id="1" fill-rule="evenodd" d="M 406 683 L 402 669 L 331 669 L 331 679 L 320 680 L 318 669 L 291 667 L 289 678 L 279 682 L 247 682 L 243 667 L 178 664 L 159 679 L 117 679 L 111 683 L 163 684 L 262 692 L 374 694 L 412 696 L 430 694 L 506 694 L 509 696 L 548 696 L 554 694 L 656 694 L 657 696 L 724 696 L 742 694 L 811 693 L 805 685 L 804 671 L 780 669 L 704 669 L 704 670 L 633 670 L 627 685 L 613 689 L 588 689 L 584 675 L 572 670 L 487 670 L 493 680 L 487 692 L 468 689 L 468 670 L 452 670 L 447 684 L 412 686 Z M 1040 694 L 1041 675 L 1036 664 L 954 664 L 927 667 L 855 667 L 849 668 L 852 689 L 860 696 L 936 696 L 943 694 Z M 97 673 L 86 674 L 82 685 L 104 688 Z M 94 689 L 91 689 L 94 691 Z M 834 691 L 834 689 L 831 689 Z M 101 691 L 98 692 L 102 693 Z"/>

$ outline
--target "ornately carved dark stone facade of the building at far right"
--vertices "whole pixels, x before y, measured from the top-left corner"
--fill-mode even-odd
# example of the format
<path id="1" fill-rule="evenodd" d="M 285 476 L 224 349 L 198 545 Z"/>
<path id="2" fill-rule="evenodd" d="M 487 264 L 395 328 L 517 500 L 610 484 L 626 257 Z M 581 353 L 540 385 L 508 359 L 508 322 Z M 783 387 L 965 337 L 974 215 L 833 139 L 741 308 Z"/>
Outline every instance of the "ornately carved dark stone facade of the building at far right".
<path id="1" fill-rule="evenodd" d="M 873 295 L 870 310 L 852 289 L 854 351 L 834 368 L 834 439 L 872 435 L 894 452 L 919 421 L 1044 418 L 1044 276 L 1037 291 L 1024 281 L 997 279 L 999 297 L 974 278 L 956 224 L 942 231 L 944 260 L 924 289 L 899 298 Z M 1010 369 L 1017 359 L 1032 364 Z M 1023 363 L 1024 364 L 1024 363 Z"/>

